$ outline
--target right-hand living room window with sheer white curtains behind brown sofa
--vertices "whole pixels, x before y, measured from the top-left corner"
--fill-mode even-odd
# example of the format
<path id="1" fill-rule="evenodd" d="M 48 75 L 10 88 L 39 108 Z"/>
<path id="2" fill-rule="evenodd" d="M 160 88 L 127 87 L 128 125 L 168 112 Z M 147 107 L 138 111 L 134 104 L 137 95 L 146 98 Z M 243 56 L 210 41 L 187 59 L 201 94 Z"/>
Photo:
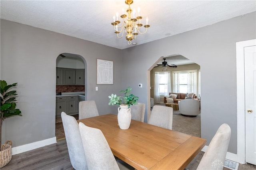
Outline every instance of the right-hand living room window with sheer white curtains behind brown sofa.
<path id="1" fill-rule="evenodd" d="M 197 70 L 183 70 L 172 72 L 173 88 L 176 93 L 194 93 L 198 92 Z"/>

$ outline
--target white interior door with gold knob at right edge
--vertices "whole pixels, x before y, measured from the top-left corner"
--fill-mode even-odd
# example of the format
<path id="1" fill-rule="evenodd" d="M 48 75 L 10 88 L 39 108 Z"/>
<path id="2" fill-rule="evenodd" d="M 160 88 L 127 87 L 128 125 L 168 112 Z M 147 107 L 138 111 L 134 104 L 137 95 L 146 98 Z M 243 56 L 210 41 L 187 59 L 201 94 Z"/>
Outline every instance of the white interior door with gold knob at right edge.
<path id="1" fill-rule="evenodd" d="M 256 46 L 244 47 L 246 162 L 256 164 Z"/>

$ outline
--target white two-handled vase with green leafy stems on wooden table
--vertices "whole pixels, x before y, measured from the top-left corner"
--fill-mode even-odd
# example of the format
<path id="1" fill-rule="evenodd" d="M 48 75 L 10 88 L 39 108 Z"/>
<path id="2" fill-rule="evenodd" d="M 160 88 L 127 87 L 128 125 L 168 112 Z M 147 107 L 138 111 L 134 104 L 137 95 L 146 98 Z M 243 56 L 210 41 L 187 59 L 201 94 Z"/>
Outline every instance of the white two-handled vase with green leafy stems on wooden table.
<path id="1" fill-rule="evenodd" d="M 126 88 L 126 90 L 121 90 L 120 92 L 124 93 L 124 96 L 117 96 L 116 94 L 108 96 L 110 99 L 108 105 L 120 105 L 120 107 L 118 107 L 117 115 L 120 129 L 128 129 L 130 127 L 132 115 L 129 107 L 131 105 L 136 105 L 138 101 L 138 96 L 131 94 L 131 90 L 132 88 L 130 87 Z"/>

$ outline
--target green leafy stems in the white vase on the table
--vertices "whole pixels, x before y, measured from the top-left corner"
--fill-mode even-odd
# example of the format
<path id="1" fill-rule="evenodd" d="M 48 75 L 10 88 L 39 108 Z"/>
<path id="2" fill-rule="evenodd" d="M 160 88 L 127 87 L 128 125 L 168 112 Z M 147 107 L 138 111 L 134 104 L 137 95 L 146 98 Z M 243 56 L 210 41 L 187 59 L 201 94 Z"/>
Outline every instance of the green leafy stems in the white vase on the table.
<path id="1" fill-rule="evenodd" d="M 138 96 L 134 96 L 134 94 L 131 94 L 132 88 L 128 87 L 126 90 L 120 90 L 120 92 L 124 93 L 124 96 L 117 96 L 116 94 L 111 94 L 111 96 L 108 96 L 109 103 L 108 105 L 128 105 L 130 107 L 131 105 L 136 105 L 138 101 Z"/>

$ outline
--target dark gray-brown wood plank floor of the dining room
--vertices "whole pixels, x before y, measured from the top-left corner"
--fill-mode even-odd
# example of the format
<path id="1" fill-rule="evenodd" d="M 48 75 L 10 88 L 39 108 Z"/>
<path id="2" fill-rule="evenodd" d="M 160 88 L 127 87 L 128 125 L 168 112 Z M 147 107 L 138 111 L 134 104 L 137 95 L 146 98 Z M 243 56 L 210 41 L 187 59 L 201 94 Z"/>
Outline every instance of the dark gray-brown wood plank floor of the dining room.
<path id="1" fill-rule="evenodd" d="M 58 130 L 64 133 L 60 124 Z M 196 170 L 203 155 L 204 152 L 199 152 L 186 169 Z M 66 139 L 62 136 L 62 139 L 58 139 L 55 144 L 13 155 L 12 160 L 1 170 L 71 170 L 71 168 Z M 224 170 L 229 169 L 224 167 Z M 238 170 L 256 170 L 256 166 L 240 164 Z"/>

